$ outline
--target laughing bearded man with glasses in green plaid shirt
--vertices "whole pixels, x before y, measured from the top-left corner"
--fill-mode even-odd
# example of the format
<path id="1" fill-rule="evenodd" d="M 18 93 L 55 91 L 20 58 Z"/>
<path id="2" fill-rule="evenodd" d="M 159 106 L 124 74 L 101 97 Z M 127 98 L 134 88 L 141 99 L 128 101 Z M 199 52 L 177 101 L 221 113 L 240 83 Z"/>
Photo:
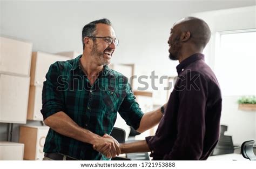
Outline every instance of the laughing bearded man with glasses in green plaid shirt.
<path id="1" fill-rule="evenodd" d="M 119 144 L 108 134 L 117 112 L 138 132 L 163 116 L 164 106 L 143 114 L 128 79 L 107 66 L 119 42 L 108 19 L 86 24 L 82 42 L 83 55 L 52 64 L 46 74 L 41 112 L 50 130 L 44 160 L 116 157 Z"/>

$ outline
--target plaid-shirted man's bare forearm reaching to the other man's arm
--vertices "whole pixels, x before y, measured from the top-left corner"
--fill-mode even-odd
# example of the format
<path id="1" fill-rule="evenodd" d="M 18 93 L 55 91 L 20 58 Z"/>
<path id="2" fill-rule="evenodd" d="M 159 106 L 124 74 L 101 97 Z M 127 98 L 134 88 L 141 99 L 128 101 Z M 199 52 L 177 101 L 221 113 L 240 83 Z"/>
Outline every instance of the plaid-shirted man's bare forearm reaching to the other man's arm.
<path id="1" fill-rule="evenodd" d="M 166 107 L 166 104 L 164 105 Z M 147 112 L 140 120 L 139 128 L 137 129 L 138 132 L 142 133 L 146 130 L 151 129 L 152 127 L 156 126 L 161 118 L 163 117 L 163 113 L 161 109 L 157 109 L 151 112 Z"/>

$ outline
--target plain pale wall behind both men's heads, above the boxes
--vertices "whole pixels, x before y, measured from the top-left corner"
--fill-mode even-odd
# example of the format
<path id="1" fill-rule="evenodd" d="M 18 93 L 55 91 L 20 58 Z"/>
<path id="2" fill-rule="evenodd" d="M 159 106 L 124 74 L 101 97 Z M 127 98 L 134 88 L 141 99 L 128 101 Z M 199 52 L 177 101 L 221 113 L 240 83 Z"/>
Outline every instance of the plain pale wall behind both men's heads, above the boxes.
<path id="1" fill-rule="evenodd" d="M 81 31 L 86 23 L 109 18 L 120 45 L 112 63 L 149 65 L 176 75 L 177 62 L 168 58 L 170 28 L 193 12 L 235 8 L 250 1 L 165 2 L 5 2 L 1 1 L 1 34 L 30 40 L 34 51 L 82 52 Z M 160 66 L 161 65 L 161 66 Z"/>

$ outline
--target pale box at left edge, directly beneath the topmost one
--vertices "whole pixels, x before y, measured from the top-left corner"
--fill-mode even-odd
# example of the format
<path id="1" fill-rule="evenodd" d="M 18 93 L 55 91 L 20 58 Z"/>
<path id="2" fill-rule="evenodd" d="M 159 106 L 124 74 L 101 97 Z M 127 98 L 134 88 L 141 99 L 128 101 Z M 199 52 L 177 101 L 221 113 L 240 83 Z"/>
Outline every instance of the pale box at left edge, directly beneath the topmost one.
<path id="1" fill-rule="evenodd" d="M 26 123 L 29 77 L 0 73 L 0 122 Z"/>

